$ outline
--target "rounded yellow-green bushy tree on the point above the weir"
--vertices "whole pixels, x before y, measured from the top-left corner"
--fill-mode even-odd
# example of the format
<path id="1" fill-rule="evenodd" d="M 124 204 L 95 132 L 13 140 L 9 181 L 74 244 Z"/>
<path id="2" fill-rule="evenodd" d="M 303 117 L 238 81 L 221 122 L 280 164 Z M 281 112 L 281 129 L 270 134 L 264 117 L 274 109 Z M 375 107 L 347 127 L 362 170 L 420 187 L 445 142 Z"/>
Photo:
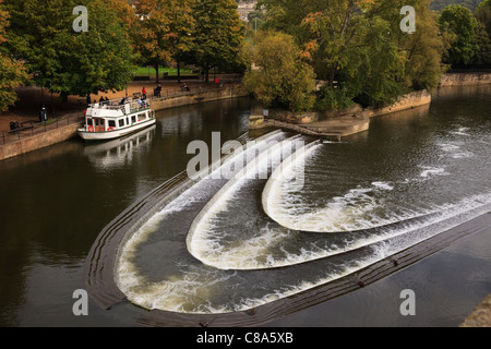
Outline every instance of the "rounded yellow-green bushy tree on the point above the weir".
<path id="1" fill-rule="evenodd" d="M 290 35 L 258 32 L 248 50 L 254 68 L 242 83 L 264 106 L 291 111 L 312 108 L 315 74 Z"/>

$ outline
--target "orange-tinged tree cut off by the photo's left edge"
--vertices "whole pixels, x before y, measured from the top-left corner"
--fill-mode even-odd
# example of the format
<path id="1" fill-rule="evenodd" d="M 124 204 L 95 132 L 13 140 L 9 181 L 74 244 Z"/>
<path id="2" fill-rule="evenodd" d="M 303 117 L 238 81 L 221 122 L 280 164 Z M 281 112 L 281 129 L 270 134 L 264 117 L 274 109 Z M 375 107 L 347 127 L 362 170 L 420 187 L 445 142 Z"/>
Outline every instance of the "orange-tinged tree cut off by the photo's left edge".
<path id="1" fill-rule="evenodd" d="M 0 5 L 2 0 L 0 0 Z M 8 26 L 9 14 L 0 9 L 0 45 L 7 41 L 5 28 Z M 1 47 L 1 46 L 0 46 Z M 13 105 L 17 99 L 15 87 L 28 80 L 28 74 L 24 64 L 20 61 L 12 60 L 8 52 L 0 50 L 0 111 L 5 111 L 9 106 Z"/>

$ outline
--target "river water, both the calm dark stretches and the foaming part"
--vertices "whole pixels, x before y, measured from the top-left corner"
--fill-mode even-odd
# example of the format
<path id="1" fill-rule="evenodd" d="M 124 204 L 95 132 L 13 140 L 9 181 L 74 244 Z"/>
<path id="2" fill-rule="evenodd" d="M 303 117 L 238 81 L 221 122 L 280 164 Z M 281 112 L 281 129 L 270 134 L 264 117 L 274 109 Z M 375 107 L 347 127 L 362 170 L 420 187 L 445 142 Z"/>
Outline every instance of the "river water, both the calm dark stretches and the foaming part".
<path id="1" fill-rule="evenodd" d="M 243 135 L 254 101 L 165 110 L 156 127 L 124 142 L 72 140 L 2 161 L 0 325 L 134 326 L 144 309 L 248 311 L 475 221 L 460 240 L 397 273 L 264 324 L 457 326 L 491 292 L 490 96 L 491 86 L 439 89 L 429 107 L 375 118 L 370 131 L 340 143 L 312 144 L 304 166 L 287 168 L 290 177 L 236 177 L 215 192 L 217 181 L 200 182 L 121 246 L 115 279 L 131 302 L 110 311 L 89 302 L 88 316 L 73 314 L 73 292 L 85 287 L 99 232 L 184 171 L 191 142 L 212 147 L 214 132 L 221 143 Z M 291 136 L 263 135 L 256 154 L 283 154 Z M 193 205 L 209 198 L 196 217 Z M 415 316 L 399 312 L 405 289 L 416 294 Z"/>

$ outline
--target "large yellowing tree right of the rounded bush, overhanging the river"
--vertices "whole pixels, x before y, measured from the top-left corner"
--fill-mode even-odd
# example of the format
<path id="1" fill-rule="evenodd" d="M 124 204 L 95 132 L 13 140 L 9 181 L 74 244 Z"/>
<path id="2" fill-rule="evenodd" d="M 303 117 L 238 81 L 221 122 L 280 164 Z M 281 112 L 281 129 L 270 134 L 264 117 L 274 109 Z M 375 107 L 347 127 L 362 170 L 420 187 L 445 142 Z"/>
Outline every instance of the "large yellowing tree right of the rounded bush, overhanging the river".
<path id="1" fill-rule="evenodd" d="M 445 67 L 445 35 L 439 35 L 429 0 L 260 0 L 265 28 L 290 34 L 327 82 L 318 105 L 349 100 L 383 105 L 400 94 L 438 85 Z M 400 29 L 400 10 L 417 12 L 416 33 Z"/>

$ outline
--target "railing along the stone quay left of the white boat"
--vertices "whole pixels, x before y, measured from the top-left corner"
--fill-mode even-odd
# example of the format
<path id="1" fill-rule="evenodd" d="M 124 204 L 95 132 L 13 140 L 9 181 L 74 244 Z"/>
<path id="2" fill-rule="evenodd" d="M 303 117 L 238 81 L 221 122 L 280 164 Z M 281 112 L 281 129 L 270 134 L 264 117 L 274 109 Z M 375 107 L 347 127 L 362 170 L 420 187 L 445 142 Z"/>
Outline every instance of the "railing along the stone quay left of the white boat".
<path id="1" fill-rule="evenodd" d="M 28 122 L 28 127 L 20 127 L 11 131 L 2 131 L 0 135 L 0 145 L 21 141 L 36 134 L 43 134 L 51 130 L 56 130 L 70 124 L 82 124 L 83 115 L 67 115 L 58 119 L 51 119 L 46 122 Z"/>

